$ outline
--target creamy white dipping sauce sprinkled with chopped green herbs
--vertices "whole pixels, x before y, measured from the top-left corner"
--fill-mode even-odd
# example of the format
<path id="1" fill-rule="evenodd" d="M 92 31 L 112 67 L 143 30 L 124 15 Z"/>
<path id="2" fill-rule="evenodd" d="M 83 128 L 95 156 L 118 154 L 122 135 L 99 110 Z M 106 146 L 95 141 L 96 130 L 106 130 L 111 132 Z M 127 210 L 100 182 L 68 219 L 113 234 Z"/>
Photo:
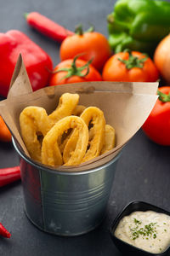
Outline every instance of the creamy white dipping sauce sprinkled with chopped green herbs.
<path id="1" fill-rule="evenodd" d="M 170 245 L 170 216 L 159 212 L 133 212 L 121 219 L 115 236 L 150 253 L 162 253 Z"/>

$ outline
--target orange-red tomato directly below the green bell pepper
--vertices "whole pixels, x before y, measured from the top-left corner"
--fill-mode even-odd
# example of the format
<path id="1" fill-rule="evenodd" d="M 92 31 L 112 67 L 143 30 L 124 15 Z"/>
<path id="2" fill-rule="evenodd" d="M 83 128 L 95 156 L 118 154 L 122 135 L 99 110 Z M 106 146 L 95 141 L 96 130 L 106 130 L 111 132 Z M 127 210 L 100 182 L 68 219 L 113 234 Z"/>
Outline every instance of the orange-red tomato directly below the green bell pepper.
<path id="1" fill-rule="evenodd" d="M 159 73 L 149 57 L 137 51 L 126 51 L 106 61 L 102 77 L 105 81 L 155 82 Z"/>

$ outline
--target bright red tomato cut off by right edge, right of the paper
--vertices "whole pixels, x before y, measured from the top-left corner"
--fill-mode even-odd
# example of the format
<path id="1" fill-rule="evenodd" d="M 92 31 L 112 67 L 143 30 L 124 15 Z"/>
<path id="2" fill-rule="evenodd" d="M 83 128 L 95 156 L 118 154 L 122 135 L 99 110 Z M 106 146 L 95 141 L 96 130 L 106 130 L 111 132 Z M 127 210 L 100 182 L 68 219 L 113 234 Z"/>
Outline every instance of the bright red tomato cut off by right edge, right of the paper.
<path id="1" fill-rule="evenodd" d="M 170 146 L 170 86 L 161 87 L 159 90 L 169 95 L 167 102 L 157 99 L 142 129 L 153 142 Z"/>

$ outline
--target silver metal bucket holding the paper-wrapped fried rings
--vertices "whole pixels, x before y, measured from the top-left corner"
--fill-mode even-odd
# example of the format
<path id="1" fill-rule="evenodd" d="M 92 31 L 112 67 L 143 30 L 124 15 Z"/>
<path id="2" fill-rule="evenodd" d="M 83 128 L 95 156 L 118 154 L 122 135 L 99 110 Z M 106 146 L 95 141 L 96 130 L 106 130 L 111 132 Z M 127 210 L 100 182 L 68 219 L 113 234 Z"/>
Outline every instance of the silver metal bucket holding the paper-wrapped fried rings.
<path id="1" fill-rule="evenodd" d="M 20 155 L 25 211 L 33 224 L 54 235 L 77 236 L 102 222 L 120 153 L 93 170 L 59 172 L 37 165 L 13 143 Z"/>

